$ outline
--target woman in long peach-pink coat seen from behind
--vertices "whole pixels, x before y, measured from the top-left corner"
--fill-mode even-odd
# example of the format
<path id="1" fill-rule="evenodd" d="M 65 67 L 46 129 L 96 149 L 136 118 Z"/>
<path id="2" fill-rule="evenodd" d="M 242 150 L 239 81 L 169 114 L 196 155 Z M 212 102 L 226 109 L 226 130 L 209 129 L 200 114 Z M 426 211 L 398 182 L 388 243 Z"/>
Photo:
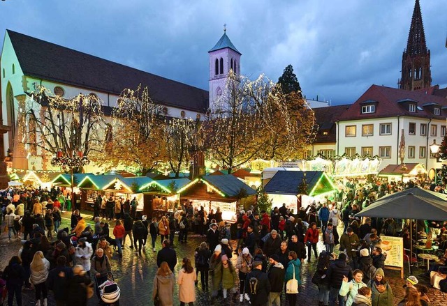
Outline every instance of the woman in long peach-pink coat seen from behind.
<path id="1" fill-rule="evenodd" d="M 189 258 L 184 257 L 182 261 L 182 269 L 179 271 L 177 284 L 179 284 L 180 306 L 185 304 L 194 305 L 194 302 L 196 302 L 196 273 L 194 273 Z"/>

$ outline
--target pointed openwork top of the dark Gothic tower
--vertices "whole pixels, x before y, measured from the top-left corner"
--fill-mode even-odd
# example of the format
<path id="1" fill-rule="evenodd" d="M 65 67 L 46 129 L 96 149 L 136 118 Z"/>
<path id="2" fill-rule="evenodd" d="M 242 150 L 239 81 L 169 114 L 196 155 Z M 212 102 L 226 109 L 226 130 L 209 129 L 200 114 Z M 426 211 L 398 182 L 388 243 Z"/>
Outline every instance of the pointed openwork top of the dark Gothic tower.
<path id="1" fill-rule="evenodd" d="M 424 25 L 420 13 L 419 0 L 414 3 L 413 17 L 411 18 L 410 33 L 406 43 L 406 54 L 427 54 L 427 43 L 425 43 Z"/>

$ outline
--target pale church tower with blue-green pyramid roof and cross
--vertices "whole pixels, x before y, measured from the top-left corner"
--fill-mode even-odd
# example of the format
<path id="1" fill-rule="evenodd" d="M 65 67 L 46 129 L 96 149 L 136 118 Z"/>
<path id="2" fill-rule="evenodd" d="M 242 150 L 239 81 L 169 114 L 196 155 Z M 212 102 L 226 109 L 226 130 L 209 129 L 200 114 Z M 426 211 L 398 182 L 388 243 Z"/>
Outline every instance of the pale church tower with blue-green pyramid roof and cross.
<path id="1" fill-rule="evenodd" d="M 208 54 L 210 54 L 210 108 L 214 105 L 219 95 L 226 86 L 228 72 L 233 70 L 240 74 L 240 56 L 236 47 L 226 35 L 226 25 L 223 25 L 223 35 Z"/>

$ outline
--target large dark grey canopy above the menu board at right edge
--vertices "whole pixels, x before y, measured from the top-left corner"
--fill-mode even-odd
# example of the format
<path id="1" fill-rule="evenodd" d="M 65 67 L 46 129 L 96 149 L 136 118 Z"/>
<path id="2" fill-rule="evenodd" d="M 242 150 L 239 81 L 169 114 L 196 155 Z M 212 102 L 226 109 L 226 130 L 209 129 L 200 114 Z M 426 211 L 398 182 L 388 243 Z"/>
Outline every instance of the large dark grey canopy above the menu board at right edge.
<path id="1" fill-rule="evenodd" d="M 447 197 L 439 192 L 410 188 L 374 201 L 357 216 L 447 220 Z"/>

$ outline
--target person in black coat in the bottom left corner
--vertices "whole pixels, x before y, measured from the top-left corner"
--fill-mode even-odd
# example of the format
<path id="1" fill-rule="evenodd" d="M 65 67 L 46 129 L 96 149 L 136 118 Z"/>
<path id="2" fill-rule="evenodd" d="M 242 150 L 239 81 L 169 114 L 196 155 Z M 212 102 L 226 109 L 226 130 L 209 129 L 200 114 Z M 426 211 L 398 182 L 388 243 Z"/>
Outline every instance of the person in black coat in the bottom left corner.
<path id="1" fill-rule="evenodd" d="M 20 265 L 22 261 L 18 256 L 13 256 L 9 260 L 8 266 L 3 270 L 1 278 L 6 281 L 8 290 L 8 306 L 13 306 L 14 296 L 17 305 L 22 305 L 22 286 L 25 278 L 25 271 Z"/>

